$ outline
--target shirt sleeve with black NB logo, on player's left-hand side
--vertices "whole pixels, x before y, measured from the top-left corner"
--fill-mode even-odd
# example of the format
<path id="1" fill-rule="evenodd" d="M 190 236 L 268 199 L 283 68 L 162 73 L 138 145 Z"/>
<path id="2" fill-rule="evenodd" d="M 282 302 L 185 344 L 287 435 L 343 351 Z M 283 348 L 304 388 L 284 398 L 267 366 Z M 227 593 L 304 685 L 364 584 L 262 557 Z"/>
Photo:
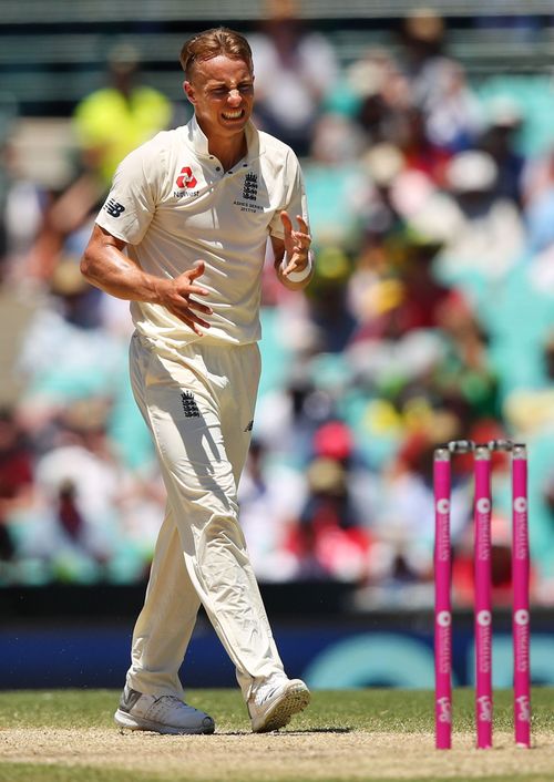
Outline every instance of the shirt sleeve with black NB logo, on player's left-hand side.
<path id="1" fill-rule="evenodd" d="M 147 143 L 122 161 L 96 217 L 99 226 L 130 245 L 140 244 L 156 210 L 157 177 L 164 166 L 160 155 L 157 165 L 153 157 Z"/>

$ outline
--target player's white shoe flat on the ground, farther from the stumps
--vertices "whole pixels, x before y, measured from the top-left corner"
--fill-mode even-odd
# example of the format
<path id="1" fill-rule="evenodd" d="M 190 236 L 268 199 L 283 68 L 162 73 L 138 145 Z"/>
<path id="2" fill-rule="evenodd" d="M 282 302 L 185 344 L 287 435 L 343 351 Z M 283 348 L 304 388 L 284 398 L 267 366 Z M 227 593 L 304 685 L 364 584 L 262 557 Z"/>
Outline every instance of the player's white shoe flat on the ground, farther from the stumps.
<path id="1" fill-rule="evenodd" d="M 153 730 L 156 733 L 213 733 L 214 720 L 193 709 L 176 696 L 146 696 L 125 685 L 115 722 L 131 730 Z"/>

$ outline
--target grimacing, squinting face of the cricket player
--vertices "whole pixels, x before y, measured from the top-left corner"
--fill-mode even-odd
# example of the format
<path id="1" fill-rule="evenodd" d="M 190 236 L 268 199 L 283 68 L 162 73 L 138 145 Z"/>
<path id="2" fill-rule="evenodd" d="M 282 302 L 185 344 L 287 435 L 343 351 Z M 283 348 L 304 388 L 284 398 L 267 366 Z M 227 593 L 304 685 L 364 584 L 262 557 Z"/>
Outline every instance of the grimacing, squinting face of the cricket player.
<path id="1" fill-rule="evenodd" d="M 184 88 L 208 138 L 243 133 L 254 105 L 254 75 L 246 62 L 225 54 L 202 60 Z"/>

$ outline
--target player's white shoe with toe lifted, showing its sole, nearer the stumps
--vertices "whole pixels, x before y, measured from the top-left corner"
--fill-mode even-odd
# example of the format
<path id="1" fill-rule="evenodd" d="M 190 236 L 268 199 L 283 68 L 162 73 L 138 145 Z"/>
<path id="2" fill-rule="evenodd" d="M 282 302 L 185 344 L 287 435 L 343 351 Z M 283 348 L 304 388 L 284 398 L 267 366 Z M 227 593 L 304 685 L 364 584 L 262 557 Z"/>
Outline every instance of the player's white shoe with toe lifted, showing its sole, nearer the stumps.
<path id="1" fill-rule="evenodd" d="M 304 681 L 274 675 L 257 688 L 248 701 L 252 729 L 255 733 L 279 730 L 309 702 L 310 691 Z"/>

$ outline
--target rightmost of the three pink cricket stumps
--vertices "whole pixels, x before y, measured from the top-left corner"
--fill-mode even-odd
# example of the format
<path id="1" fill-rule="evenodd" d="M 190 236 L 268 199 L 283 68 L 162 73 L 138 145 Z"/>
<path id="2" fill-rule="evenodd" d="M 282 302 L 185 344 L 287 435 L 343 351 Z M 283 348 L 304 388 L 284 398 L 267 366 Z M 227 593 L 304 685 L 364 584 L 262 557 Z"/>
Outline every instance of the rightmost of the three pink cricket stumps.
<path id="1" fill-rule="evenodd" d="M 512 582 L 514 642 L 514 732 L 517 747 L 531 747 L 531 667 L 529 610 L 527 453 L 512 451 Z"/>

